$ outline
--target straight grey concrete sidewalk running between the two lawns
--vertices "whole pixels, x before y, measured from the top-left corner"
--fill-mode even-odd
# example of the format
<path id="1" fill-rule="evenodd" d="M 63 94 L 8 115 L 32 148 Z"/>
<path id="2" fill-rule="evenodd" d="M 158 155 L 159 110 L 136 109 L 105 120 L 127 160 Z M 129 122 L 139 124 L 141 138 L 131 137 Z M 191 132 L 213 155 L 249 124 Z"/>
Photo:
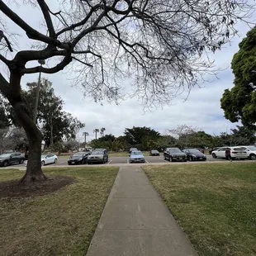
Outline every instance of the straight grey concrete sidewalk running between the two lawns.
<path id="1" fill-rule="evenodd" d="M 121 167 L 87 256 L 196 256 L 138 166 Z"/>

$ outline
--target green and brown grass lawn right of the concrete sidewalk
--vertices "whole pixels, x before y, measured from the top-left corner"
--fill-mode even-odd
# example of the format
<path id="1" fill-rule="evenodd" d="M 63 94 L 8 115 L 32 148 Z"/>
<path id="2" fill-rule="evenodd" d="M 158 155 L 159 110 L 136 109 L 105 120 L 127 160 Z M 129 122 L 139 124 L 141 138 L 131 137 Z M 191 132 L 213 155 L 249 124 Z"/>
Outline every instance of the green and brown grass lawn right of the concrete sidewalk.
<path id="1" fill-rule="evenodd" d="M 199 255 L 256 255 L 256 163 L 144 170 Z"/>

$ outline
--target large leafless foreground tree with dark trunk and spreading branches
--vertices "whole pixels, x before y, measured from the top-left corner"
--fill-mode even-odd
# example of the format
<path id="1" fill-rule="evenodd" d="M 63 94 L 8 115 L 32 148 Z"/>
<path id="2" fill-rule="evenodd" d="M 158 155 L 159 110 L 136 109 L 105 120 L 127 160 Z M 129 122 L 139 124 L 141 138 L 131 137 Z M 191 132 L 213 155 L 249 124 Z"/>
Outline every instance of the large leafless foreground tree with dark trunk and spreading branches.
<path id="1" fill-rule="evenodd" d="M 167 103 L 184 88 L 197 85 L 212 71 L 207 51 L 216 51 L 234 36 L 237 21 L 248 21 L 252 6 L 245 0 L 24 0 L 38 8 L 45 33 L 14 12 L 16 2 L 0 0 L 0 60 L 9 77 L 0 73 L 0 91 L 11 102 L 29 138 L 29 161 L 21 183 L 45 179 L 40 167 L 40 130 L 21 98 L 21 78 L 29 73 L 57 73 L 69 65 L 78 72 L 77 82 L 96 101 L 117 100 L 121 82 L 133 79 L 135 96 L 146 106 Z M 27 6 L 26 6 L 27 7 Z M 28 40 L 30 50 L 14 58 L 6 50 L 17 45 L 6 30 L 13 21 Z M 10 48 L 11 47 L 11 48 Z M 1 48 L 2 49 L 2 48 Z M 29 64 L 50 60 L 51 66 Z M 75 63 L 75 64 L 74 64 Z"/>

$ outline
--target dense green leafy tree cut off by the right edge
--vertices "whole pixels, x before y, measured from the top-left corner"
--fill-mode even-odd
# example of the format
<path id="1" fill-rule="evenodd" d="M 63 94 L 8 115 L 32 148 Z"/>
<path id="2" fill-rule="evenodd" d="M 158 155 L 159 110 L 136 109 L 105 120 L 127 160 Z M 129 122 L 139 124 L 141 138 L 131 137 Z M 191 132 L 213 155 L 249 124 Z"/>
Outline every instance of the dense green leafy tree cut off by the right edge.
<path id="1" fill-rule="evenodd" d="M 256 26 L 239 43 L 239 51 L 232 59 L 235 87 L 226 89 L 220 99 L 225 118 L 242 121 L 244 126 L 256 123 Z"/>

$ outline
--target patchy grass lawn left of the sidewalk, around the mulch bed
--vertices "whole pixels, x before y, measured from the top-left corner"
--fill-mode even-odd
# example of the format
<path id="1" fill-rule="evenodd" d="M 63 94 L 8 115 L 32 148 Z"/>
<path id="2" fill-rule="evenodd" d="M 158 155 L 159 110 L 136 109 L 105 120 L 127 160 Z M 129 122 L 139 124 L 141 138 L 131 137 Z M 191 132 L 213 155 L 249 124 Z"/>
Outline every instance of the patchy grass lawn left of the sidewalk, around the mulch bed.
<path id="1" fill-rule="evenodd" d="M 118 168 L 52 168 L 48 177 L 75 183 L 57 192 L 27 198 L 0 198 L 1 255 L 85 255 Z M 21 178 L 1 170 L 0 182 Z"/>

